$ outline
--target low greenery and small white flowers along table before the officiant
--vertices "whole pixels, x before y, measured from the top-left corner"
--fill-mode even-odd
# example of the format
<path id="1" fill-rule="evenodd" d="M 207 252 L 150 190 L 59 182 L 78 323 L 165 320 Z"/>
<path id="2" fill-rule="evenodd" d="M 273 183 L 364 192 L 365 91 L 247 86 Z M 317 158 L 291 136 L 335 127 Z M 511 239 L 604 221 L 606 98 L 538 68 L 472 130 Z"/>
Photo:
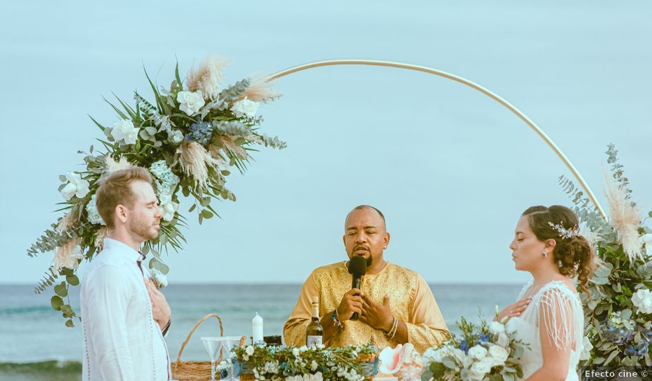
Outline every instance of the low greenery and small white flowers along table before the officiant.
<path id="1" fill-rule="evenodd" d="M 231 352 L 218 371 L 234 365 L 236 375 L 251 374 L 256 380 L 365 381 L 375 375 L 378 365 L 377 349 L 371 344 L 343 348 L 250 345 Z"/>

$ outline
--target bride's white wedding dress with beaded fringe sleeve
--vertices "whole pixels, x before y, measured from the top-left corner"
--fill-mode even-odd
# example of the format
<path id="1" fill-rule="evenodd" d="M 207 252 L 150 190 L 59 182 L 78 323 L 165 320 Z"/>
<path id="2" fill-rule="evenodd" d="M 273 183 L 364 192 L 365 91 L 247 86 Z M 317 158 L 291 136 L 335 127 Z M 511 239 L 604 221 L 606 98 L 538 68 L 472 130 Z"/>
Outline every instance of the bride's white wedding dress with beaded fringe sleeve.
<path id="1" fill-rule="evenodd" d="M 530 281 L 523 287 L 517 300 L 521 300 L 531 287 Z M 525 380 L 543 365 L 539 331 L 541 321 L 546 323 L 546 335 L 551 343 L 557 348 L 571 348 L 566 380 L 578 380 L 577 365 L 582 352 L 584 312 L 578 294 L 563 281 L 551 281 L 541 287 L 521 316 L 509 319 L 506 324 L 508 332 L 515 332 L 516 339 L 530 345 L 529 349 L 524 348 L 521 357 L 523 378 L 520 380 Z"/>

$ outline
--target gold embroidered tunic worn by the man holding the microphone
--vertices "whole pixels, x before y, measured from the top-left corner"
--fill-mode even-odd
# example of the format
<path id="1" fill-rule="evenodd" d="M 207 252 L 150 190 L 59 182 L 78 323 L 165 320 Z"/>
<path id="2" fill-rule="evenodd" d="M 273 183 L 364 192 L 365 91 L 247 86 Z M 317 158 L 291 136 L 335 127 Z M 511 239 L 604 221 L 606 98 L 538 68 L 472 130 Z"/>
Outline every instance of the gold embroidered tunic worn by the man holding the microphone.
<path id="1" fill-rule="evenodd" d="M 286 345 L 302 346 L 306 342 L 306 326 L 310 322 L 311 300 L 319 297 L 319 315 L 324 317 L 338 307 L 342 297 L 351 290 L 352 275 L 345 262 L 333 263 L 315 269 L 304 283 L 299 300 L 283 327 Z M 445 339 L 448 328 L 435 297 L 424 279 L 409 269 L 388 263 L 378 274 L 362 277 L 361 290 L 376 303 L 382 304 L 385 294 L 394 317 L 407 327 L 408 342 L 423 353 L 427 348 Z M 327 324 L 332 324 L 329 320 Z M 362 321 L 343 321 L 326 346 L 374 344 L 383 349 L 399 344 L 388 340 L 383 330 L 372 328 Z"/>

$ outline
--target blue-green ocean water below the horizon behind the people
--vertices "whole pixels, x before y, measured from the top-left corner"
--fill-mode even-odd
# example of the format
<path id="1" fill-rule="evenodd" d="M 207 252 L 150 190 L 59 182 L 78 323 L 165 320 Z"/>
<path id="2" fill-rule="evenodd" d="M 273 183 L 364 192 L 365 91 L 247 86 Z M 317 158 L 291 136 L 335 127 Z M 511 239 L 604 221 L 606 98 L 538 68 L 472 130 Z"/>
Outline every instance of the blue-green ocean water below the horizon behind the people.
<path id="1" fill-rule="evenodd" d="M 456 330 L 461 316 L 479 321 L 479 310 L 492 319 L 494 306 L 515 301 L 520 285 L 431 284 L 447 325 Z M 256 312 L 264 318 L 265 335 L 282 335 L 283 324 L 298 299 L 301 285 L 203 284 L 170 285 L 163 292 L 172 309 L 166 337 L 171 360 L 196 322 L 216 313 L 225 336 L 251 335 Z M 65 320 L 50 306 L 51 290 L 34 294 L 32 285 L 0 285 L 0 380 L 78 380 L 83 353 L 80 324 Z M 79 312 L 79 287 L 71 292 Z M 205 321 L 191 337 L 182 360 L 209 360 L 200 337 L 218 336 L 216 319 Z"/>

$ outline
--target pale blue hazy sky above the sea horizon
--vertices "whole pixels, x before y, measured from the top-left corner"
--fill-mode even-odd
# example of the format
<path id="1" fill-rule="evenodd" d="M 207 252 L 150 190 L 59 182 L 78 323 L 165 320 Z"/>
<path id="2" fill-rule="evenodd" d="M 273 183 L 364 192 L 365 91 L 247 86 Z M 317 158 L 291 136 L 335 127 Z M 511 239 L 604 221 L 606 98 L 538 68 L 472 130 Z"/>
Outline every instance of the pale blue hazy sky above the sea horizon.
<path id="1" fill-rule="evenodd" d="M 652 210 L 649 1 L 9 2 L 0 24 L 0 283 L 36 283 L 52 254 L 26 249 L 60 213 L 59 175 L 80 170 L 103 102 L 151 99 L 207 53 L 232 59 L 223 84 L 332 59 L 389 60 L 462 76 L 519 108 L 607 208 L 615 143 L 642 211 Z M 385 67 L 322 67 L 277 81 L 262 149 L 199 225 L 164 256 L 170 283 L 300 283 L 345 260 L 345 215 L 383 211 L 385 258 L 430 283 L 522 283 L 509 242 L 527 207 L 570 202 L 571 176 L 494 100 L 445 78 Z M 80 265 L 80 274 L 85 263 Z"/>

